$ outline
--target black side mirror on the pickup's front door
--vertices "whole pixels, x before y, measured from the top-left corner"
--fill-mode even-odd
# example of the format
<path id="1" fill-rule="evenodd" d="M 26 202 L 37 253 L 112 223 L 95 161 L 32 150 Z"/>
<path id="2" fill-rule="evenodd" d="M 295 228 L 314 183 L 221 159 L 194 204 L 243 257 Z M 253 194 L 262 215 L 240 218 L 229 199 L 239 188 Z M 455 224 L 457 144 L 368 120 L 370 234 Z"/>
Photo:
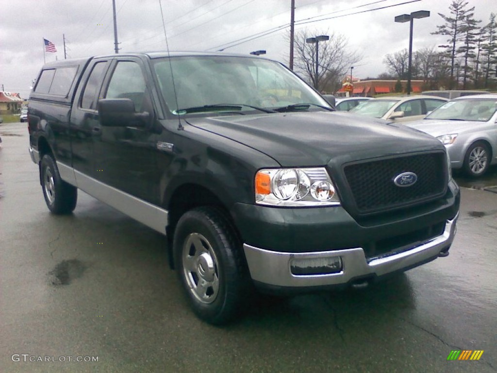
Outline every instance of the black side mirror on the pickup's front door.
<path id="1" fill-rule="evenodd" d="M 148 112 L 135 113 L 135 103 L 130 98 L 103 98 L 98 100 L 100 123 L 106 127 L 146 127 Z"/>

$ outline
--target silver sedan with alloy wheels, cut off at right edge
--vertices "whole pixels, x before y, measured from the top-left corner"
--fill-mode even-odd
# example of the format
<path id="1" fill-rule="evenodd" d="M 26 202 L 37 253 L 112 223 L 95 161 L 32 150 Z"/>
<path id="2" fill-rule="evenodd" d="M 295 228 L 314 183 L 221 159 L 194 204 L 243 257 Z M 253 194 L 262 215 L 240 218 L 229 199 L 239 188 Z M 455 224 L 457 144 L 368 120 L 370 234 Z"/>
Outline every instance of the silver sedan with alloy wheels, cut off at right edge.
<path id="1" fill-rule="evenodd" d="M 497 94 L 455 98 L 408 126 L 439 139 L 453 169 L 471 177 L 497 163 Z"/>

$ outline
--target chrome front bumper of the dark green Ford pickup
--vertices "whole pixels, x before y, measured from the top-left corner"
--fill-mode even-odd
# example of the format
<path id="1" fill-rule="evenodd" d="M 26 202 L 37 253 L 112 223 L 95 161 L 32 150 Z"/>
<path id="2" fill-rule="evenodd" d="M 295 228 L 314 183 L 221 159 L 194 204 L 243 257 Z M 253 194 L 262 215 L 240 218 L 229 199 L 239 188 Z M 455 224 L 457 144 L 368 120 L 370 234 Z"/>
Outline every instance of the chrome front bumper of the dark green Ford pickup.
<path id="1" fill-rule="evenodd" d="M 409 250 L 373 259 L 369 263 L 364 255 L 364 250 L 360 247 L 322 252 L 280 253 L 244 244 L 244 251 L 250 276 L 256 282 L 281 287 L 339 285 L 356 278 L 374 275 L 382 276 L 395 271 L 407 270 L 436 258 L 442 250 L 447 249 L 452 244 L 456 233 L 458 216 L 459 214 L 452 220 L 447 220 L 445 230 L 440 236 L 414 246 Z M 302 276 L 294 275 L 290 270 L 290 261 L 292 259 L 338 256 L 343 264 L 341 272 L 338 273 Z"/>

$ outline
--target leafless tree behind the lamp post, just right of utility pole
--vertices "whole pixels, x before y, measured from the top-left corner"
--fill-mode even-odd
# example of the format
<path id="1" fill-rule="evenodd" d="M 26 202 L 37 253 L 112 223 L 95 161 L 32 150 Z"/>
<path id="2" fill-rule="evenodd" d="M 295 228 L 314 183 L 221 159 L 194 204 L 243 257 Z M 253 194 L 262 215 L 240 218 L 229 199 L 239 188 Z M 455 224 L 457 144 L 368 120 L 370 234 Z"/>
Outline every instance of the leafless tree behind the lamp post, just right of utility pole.
<path id="1" fill-rule="evenodd" d="M 306 39 L 316 35 L 329 35 L 330 40 L 319 42 L 318 74 L 316 74 L 316 43 L 307 43 Z M 300 73 L 318 91 L 331 88 L 335 91 L 350 67 L 360 61 L 356 52 L 350 51 L 345 36 L 323 30 L 303 29 L 296 33 L 294 39 L 296 72 Z M 338 86 L 338 87 L 337 87 Z"/>

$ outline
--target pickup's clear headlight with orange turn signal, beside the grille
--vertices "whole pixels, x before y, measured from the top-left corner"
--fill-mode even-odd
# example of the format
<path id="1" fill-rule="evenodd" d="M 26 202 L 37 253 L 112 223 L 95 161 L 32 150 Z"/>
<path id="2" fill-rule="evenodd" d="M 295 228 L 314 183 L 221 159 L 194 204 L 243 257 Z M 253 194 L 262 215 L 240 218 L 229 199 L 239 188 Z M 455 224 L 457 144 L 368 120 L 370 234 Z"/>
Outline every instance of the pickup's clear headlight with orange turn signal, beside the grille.
<path id="1" fill-rule="evenodd" d="M 255 202 L 302 207 L 340 204 L 324 167 L 259 170 L 255 174 Z"/>

